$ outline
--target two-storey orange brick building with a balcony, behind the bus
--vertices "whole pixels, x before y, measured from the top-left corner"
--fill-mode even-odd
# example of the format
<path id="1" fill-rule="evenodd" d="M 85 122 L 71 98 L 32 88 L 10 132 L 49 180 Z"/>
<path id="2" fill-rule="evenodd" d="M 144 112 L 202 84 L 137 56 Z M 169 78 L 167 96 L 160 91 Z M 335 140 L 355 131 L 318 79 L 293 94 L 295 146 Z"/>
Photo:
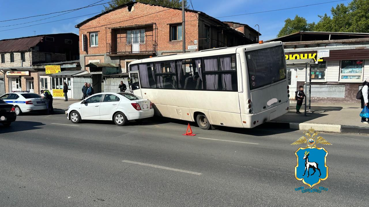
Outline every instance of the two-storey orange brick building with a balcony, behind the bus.
<path id="1" fill-rule="evenodd" d="M 257 42 L 258 32 L 245 24 L 241 31 L 195 10 L 186 10 L 185 19 L 186 52 Z M 111 77 L 118 85 L 128 76 L 127 66 L 133 60 L 182 52 L 179 8 L 131 2 L 89 18 L 76 28 L 81 37 L 80 63 L 92 74 L 95 92 L 104 91 Z M 248 38 L 250 31 L 252 38 Z"/>

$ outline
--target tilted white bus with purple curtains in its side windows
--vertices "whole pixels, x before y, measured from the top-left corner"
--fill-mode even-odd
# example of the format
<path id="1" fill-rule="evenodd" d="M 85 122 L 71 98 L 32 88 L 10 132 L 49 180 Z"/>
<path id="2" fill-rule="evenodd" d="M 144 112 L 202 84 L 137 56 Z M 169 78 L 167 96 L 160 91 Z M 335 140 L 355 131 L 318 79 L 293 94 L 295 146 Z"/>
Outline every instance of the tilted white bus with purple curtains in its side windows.
<path id="1" fill-rule="evenodd" d="M 212 126 L 252 128 L 289 110 L 282 42 L 135 60 L 131 90 L 155 115 Z"/>

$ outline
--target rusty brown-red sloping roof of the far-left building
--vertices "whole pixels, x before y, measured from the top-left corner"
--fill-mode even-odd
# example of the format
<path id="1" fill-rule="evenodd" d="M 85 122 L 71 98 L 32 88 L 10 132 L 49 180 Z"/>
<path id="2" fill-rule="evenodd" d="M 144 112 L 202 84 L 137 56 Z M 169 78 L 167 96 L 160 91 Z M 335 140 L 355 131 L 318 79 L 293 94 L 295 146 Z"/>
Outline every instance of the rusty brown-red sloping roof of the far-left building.
<path id="1" fill-rule="evenodd" d="M 42 41 L 44 35 L 0 40 L 0 53 L 27 51 Z"/>

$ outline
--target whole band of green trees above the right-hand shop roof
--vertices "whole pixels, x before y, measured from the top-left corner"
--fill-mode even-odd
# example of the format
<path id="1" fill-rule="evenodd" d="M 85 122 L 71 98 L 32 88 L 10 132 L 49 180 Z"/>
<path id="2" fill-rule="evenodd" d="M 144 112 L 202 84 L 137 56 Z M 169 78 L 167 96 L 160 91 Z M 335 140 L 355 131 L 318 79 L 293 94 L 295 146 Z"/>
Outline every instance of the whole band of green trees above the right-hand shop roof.
<path id="1" fill-rule="evenodd" d="M 278 37 L 297 31 L 369 32 L 369 0 L 352 0 L 347 6 L 337 4 L 332 7 L 331 15 L 318 15 L 317 24 L 307 23 L 305 18 L 297 15 L 294 20 L 287 18 Z"/>

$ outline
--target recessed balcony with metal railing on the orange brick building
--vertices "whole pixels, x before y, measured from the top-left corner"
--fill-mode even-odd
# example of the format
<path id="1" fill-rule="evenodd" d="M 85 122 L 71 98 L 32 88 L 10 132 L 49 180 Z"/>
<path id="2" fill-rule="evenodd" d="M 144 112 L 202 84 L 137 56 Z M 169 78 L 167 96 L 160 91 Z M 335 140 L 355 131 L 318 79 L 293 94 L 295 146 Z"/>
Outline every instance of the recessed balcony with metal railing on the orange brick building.
<path id="1" fill-rule="evenodd" d="M 106 43 L 107 55 L 155 55 L 157 52 L 155 23 L 108 29 L 111 41 Z"/>

